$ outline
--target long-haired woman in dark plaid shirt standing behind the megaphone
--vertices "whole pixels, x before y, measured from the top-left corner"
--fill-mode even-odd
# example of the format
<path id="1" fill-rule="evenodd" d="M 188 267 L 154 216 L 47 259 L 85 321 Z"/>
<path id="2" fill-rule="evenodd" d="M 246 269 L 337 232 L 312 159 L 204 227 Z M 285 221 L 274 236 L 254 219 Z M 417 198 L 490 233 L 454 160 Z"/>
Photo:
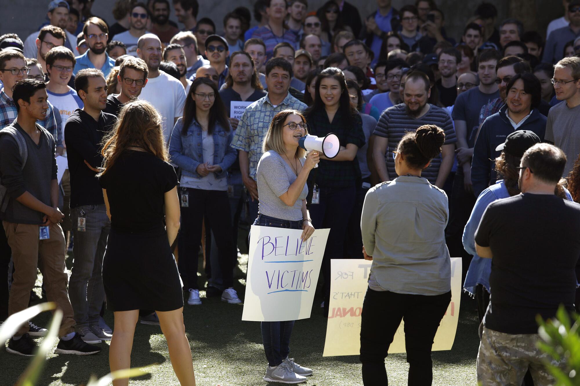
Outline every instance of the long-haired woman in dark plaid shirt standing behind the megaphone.
<path id="1" fill-rule="evenodd" d="M 305 112 L 310 134 L 326 137 L 335 133 L 340 151 L 331 158 L 320 155 L 320 167 L 311 173 L 308 187 L 312 194 L 310 212 L 314 227 L 330 228 L 324 258 L 324 315 L 330 298 L 330 259 L 345 257 L 346 230 L 356 202 L 361 179 L 357 151 L 365 144 L 362 119 L 350 103 L 345 75 L 335 67 L 322 70 L 316 79 L 314 104 Z"/>

